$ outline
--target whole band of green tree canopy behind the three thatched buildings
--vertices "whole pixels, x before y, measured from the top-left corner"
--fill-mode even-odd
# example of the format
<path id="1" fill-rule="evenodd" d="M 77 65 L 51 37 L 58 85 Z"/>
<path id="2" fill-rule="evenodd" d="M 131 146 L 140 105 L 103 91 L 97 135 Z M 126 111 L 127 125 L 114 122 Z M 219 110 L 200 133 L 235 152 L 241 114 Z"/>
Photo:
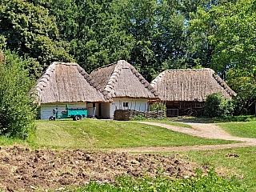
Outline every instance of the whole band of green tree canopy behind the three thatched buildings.
<path id="1" fill-rule="evenodd" d="M 252 0 L 2 0 L 0 46 L 30 77 L 51 62 L 88 73 L 124 59 L 149 82 L 166 69 L 210 67 L 238 93 L 237 111 L 256 96 Z"/>

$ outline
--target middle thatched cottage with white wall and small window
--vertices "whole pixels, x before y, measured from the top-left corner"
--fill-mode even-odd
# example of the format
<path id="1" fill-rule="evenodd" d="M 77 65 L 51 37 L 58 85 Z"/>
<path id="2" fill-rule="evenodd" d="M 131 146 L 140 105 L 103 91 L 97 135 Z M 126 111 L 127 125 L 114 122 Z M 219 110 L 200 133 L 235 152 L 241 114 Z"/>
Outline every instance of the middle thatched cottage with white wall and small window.
<path id="1" fill-rule="evenodd" d="M 102 118 L 114 118 L 114 110 L 149 110 L 148 102 L 158 99 L 154 87 L 130 63 L 120 60 L 91 72 L 101 90 L 113 102 L 100 103 Z"/>

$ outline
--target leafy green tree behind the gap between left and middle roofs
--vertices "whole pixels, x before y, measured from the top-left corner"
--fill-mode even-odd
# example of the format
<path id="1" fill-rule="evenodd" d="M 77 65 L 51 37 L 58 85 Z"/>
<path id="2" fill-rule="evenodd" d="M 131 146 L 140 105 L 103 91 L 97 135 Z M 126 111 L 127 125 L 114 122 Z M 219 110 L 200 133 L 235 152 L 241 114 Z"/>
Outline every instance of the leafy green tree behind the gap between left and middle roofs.
<path id="1" fill-rule="evenodd" d="M 51 4 L 60 37 L 70 42 L 76 62 L 92 70 L 128 60 L 134 40 L 123 30 L 113 0 L 57 0 Z"/>

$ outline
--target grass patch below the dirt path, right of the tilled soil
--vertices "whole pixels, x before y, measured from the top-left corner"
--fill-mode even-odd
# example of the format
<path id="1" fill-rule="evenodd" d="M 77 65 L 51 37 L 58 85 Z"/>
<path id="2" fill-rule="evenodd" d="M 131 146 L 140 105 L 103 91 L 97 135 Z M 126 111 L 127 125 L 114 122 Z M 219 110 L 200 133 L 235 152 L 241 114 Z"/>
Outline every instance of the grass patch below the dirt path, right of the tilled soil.
<path id="1" fill-rule="evenodd" d="M 256 191 L 255 152 L 256 147 L 252 146 L 226 150 L 189 151 L 179 154 L 200 166 L 215 167 L 217 172 L 222 174 L 224 172 L 227 178 L 235 176 L 240 180 L 240 189 L 249 192 Z"/>

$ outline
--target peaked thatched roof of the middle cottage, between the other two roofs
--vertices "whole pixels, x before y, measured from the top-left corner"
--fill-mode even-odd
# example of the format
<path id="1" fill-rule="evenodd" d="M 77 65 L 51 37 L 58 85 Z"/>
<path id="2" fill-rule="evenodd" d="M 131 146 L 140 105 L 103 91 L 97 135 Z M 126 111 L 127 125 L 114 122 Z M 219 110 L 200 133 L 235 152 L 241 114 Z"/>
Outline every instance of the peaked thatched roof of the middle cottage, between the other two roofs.
<path id="1" fill-rule="evenodd" d="M 90 76 L 112 98 L 158 98 L 153 86 L 134 66 L 123 60 L 98 68 Z"/>

